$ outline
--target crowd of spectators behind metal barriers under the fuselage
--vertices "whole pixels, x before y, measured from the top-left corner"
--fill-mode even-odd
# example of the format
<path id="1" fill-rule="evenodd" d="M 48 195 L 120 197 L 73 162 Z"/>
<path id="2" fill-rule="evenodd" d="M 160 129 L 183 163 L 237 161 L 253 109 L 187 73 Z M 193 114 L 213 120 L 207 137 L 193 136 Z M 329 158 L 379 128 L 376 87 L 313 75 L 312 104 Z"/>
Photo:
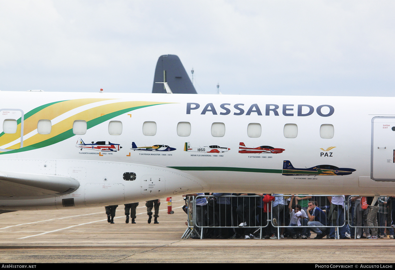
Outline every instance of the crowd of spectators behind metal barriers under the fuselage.
<path id="1" fill-rule="evenodd" d="M 184 210 L 190 214 L 190 226 L 194 226 L 192 238 L 200 238 L 201 230 L 203 238 L 218 239 L 394 238 L 395 196 L 263 193 L 184 196 L 189 197 Z M 191 203 L 191 199 L 196 203 Z"/>

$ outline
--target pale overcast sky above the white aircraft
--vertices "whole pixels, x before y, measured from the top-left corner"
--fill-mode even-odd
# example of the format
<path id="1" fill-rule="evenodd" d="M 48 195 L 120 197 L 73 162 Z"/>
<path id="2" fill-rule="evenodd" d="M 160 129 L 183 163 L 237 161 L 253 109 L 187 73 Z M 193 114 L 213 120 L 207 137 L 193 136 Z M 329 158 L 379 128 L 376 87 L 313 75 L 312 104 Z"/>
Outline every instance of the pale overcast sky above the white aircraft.
<path id="1" fill-rule="evenodd" d="M 395 1 L 0 0 L 0 90 L 395 96 Z"/>

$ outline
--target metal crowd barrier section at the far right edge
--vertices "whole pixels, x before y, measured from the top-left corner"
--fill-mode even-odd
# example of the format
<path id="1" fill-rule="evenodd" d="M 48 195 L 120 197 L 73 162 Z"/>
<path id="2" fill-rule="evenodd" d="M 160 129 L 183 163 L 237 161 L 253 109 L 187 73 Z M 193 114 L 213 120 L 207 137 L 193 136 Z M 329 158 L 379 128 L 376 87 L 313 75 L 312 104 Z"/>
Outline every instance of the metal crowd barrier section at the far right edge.
<path id="1" fill-rule="evenodd" d="M 387 229 L 389 235 L 393 236 L 394 227 L 391 226 L 393 222 L 391 217 L 392 207 L 391 203 L 387 204 L 390 196 L 374 197 L 371 203 L 372 205 L 365 206 L 365 209 L 361 206 L 362 197 L 360 195 L 351 195 L 347 201 L 347 220 L 350 228 L 354 228 L 354 238 L 357 239 L 358 235 L 365 238 L 366 236 L 363 237 L 363 232 L 370 234 L 369 229 L 372 229 L 372 235 L 376 233 L 378 236 L 386 235 Z M 376 201 L 378 201 L 378 205 L 374 206 Z M 371 219 L 370 222 L 369 219 Z M 369 226 L 369 223 L 371 223 L 371 226 Z"/>

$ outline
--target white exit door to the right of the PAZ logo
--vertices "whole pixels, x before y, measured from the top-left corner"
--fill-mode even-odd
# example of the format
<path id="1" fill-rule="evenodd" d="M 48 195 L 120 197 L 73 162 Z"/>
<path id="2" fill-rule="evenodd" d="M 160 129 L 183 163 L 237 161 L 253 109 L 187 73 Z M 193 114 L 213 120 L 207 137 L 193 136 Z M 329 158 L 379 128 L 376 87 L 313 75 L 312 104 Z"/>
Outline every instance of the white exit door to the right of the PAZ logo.
<path id="1" fill-rule="evenodd" d="M 395 181 L 395 117 L 372 119 L 371 178 Z"/>

